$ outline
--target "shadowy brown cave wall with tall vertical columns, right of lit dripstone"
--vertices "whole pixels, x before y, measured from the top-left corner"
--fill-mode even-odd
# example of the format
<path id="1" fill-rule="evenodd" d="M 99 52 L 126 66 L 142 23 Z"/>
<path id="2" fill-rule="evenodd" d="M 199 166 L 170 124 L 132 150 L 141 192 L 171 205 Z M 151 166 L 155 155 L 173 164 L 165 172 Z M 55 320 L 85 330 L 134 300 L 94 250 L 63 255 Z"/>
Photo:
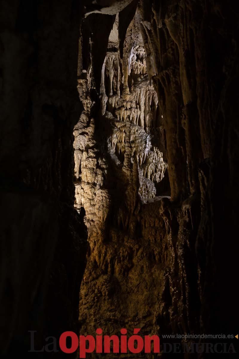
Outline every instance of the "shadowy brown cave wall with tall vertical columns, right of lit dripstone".
<path id="1" fill-rule="evenodd" d="M 185 264 L 182 276 L 186 283 L 191 277 L 186 284 L 188 295 L 198 281 L 199 312 L 191 308 L 193 297 L 186 295 L 188 317 L 191 312 L 200 319 L 202 332 L 231 330 L 235 325 L 223 308 L 235 305 L 231 298 L 237 248 L 234 233 L 238 232 L 238 188 L 234 185 L 238 180 L 238 4 L 159 1 L 152 8 L 145 5 L 140 1 L 138 16 L 149 76 L 165 119 L 167 143 L 175 143 L 167 148 L 171 199 L 181 196 L 186 211 L 185 238 L 179 230 L 177 242 L 185 248 L 179 251 L 178 247 L 177 256 L 183 263 L 183 252 L 196 255 L 197 275 L 193 278 L 192 264 Z M 187 173 L 173 164 L 178 160 L 175 150 L 180 148 Z M 222 168 L 227 173 L 223 178 Z M 193 235 L 186 243 L 188 225 Z"/>

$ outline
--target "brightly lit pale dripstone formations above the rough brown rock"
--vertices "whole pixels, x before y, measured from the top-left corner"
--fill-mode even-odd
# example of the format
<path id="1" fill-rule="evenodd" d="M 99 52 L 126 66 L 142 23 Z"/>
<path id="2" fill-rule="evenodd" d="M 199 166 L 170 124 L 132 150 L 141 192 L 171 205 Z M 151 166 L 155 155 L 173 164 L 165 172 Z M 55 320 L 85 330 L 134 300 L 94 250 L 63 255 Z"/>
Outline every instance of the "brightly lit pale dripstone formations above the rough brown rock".
<path id="1" fill-rule="evenodd" d="M 118 42 L 113 42 L 118 41 L 117 23 L 116 18 L 109 48 L 118 46 Z M 132 27 L 135 19 L 128 33 Z M 142 44 L 141 37 L 130 49 L 126 43 L 122 60 L 118 51 L 106 53 L 97 118 L 91 117 L 91 69 L 85 80 L 78 80 L 84 111 L 74 129 L 75 207 L 85 208 L 89 239 L 93 227 L 96 232 L 105 227 L 110 203 L 117 201 L 118 189 L 112 193 L 107 183 L 113 167 L 117 168 L 118 180 L 123 175 L 131 178 L 129 188 L 132 186 L 142 203 L 156 195 L 154 183 L 162 181 L 167 169 L 163 160 L 162 116 L 159 116 L 157 94 L 149 83 Z M 97 133 L 96 127 L 101 127 Z M 97 138 L 101 135 L 99 142 Z"/>

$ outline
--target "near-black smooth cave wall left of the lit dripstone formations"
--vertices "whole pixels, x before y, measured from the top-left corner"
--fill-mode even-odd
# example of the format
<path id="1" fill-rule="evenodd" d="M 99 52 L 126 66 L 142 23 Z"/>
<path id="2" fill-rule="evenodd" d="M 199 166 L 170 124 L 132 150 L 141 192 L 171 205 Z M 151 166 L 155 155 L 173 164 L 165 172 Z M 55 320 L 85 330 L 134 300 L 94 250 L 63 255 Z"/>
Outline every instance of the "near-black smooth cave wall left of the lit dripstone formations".
<path id="1" fill-rule="evenodd" d="M 0 350 L 9 357 L 30 349 L 28 330 L 37 349 L 44 336 L 78 331 L 87 250 L 73 209 L 81 6 L 1 1 Z"/>

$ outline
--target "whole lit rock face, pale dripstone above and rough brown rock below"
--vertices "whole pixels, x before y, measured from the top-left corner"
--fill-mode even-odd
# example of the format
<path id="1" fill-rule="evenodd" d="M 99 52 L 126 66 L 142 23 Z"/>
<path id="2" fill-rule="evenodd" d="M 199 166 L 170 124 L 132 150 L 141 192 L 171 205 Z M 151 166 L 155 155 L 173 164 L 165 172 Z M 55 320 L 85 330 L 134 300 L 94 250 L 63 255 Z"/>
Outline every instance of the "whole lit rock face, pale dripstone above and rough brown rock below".
<path id="1" fill-rule="evenodd" d="M 118 40 L 117 27 L 113 27 L 102 65 L 99 109 L 94 117 L 91 68 L 85 79 L 78 80 L 84 111 L 74 129 L 75 207 L 85 208 L 91 246 L 80 293 L 82 331 L 88 333 L 99 326 L 109 329 L 111 320 L 116 321 L 113 328 L 118 331 L 122 316 L 124 325 L 135 317 L 139 327 L 153 330 L 157 295 L 152 297 L 151 289 L 156 289 L 156 278 L 159 280 L 161 275 L 161 259 L 155 260 L 161 254 L 154 246 L 156 239 L 150 238 L 147 230 L 140 233 L 144 232 L 141 217 L 146 215 L 141 212 L 150 199 L 160 201 L 155 196 L 166 175 L 167 163 L 162 115 L 148 79 L 140 33 L 136 41 L 132 37 L 129 42 L 136 26 L 133 19 L 126 33 L 123 59 L 119 51 L 112 51 L 118 46 L 112 41 Z M 162 220 L 158 226 L 164 227 Z M 151 270 L 154 275 L 148 281 Z M 123 300 L 128 296 L 131 303 Z"/>

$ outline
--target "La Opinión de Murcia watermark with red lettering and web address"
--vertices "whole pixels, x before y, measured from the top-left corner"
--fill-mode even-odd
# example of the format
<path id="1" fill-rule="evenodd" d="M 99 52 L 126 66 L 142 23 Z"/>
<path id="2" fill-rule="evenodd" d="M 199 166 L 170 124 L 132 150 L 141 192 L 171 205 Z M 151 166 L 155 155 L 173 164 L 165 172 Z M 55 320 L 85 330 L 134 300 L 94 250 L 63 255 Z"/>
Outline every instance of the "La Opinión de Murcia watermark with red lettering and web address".
<path id="1" fill-rule="evenodd" d="M 163 342 L 161 343 L 157 335 L 139 335 L 140 329 L 135 328 L 132 336 L 127 337 L 127 329 L 120 330 L 121 335 L 102 335 L 101 328 L 96 329 L 95 337 L 92 335 L 80 335 L 79 337 L 72 331 L 66 331 L 61 334 L 59 340 L 56 337 L 46 337 L 46 344 L 40 350 L 35 349 L 35 330 L 29 331 L 30 333 L 30 350 L 29 352 L 58 352 L 59 350 L 64 353 L 74 353 L 79 350 L 79 357 L 86 358 L 87 353 L 216 353 L 228 354 L 236 353 L 234 344 L 231 339 L 238 339 L 237 335 L 232 334 L 165 334 L 162 339 L 182 339 L 180 342 Z M 184 340 L 188 341 L 185 342 Z M 223 339 L 221 342 L 193 342 L 192 339 Z M 225 339 L 230 339 L 225 342 Z M 58 350 L 59 349 L 59 350 Z"/>

